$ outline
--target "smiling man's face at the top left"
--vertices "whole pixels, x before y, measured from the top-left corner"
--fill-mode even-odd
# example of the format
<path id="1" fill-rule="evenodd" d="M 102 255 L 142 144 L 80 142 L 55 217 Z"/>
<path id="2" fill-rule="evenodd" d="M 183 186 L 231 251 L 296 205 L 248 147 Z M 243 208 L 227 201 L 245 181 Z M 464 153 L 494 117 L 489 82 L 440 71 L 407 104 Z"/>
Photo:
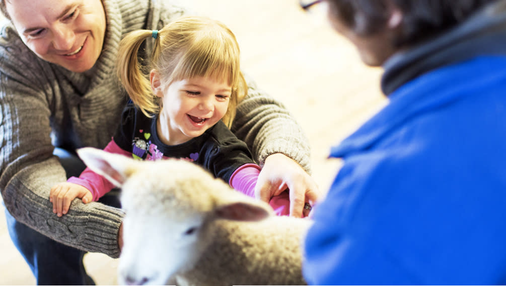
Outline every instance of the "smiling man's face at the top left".
<path id="1" fill-rule="evenodd" d="M 73 72 L 91 69 L 102 52 L 101 0 L 16 0 L 6 8 L 23 42 L 39 58 Z"/>

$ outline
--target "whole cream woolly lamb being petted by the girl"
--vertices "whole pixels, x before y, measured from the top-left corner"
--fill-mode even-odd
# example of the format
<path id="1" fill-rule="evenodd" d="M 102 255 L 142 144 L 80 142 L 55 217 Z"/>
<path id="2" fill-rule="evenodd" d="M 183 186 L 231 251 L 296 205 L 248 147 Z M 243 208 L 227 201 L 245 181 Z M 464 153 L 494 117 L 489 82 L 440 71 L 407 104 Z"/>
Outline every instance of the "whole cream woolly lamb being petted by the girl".
<path id="1" fill-rule="evenodd" d="M 93 148 L 78 154 L 122 187 L 120 284 L 306 284 L 300 244 L 309 219 L 275 216 L 187 161 L 137 161 Z"/>

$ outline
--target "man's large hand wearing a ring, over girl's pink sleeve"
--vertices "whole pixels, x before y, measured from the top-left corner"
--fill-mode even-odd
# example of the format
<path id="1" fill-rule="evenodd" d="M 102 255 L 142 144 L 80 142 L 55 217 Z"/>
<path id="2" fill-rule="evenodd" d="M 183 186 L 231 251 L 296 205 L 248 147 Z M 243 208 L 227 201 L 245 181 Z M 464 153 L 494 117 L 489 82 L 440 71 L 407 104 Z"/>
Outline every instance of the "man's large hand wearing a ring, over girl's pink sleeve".
<path id="1" fill-rule="evenodd" d="M 266 158 L 264 167 L 255 186 L 255 197 L 269 203 L 273 196 L 280 195 L 285 189 L 290 194 L 290 216 L 306 217 L 309 207 L 318 200 L 318 186 L 314 179 L 293 159 L 281 153 Z"/>

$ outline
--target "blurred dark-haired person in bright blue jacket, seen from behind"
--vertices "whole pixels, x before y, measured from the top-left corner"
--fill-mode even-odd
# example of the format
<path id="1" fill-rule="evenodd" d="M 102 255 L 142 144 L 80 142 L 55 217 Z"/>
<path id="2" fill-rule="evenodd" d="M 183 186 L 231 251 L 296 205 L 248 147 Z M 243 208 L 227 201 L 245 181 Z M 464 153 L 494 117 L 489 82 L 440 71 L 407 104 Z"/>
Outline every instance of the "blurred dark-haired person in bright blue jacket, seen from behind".
<path id="1" fill-rule="evenodd" d="M 506 284 L 506 0 L 320 0 L 388 105 L 341 144 L 310 284 Z"/>

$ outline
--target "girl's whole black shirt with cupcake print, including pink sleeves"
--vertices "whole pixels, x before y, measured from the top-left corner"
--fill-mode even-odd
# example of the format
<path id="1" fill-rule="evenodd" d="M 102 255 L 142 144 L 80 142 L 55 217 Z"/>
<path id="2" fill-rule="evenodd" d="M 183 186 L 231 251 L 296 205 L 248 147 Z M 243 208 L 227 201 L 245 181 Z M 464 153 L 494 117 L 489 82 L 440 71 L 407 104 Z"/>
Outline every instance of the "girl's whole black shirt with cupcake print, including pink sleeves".
<path id="1" fill-rule="evenodd" d="M 173 146 L 166 145 L 160 140 L 156 124 L 156 116 L 149 118 L 134 105 L 129 104 L 123 111 L 121 124 L 113 140 L 104 150 L 132 156 L 138 160 L 155 161 L 176 158 L 195 162 L 239 192 L 254 197 L 260 167 L 252 159 L 246 144 L 239 140 L 222 121 L 207 129 L 202 135 Z M 89 168 L 83 171 L 79 178 L 71 177 L 68 181 L 88 188 L 94 201 L 114 187 L 111 182 Z M 287 192 L 274 197 L 270 204 L 276 214 L 288 215 Z"/>

